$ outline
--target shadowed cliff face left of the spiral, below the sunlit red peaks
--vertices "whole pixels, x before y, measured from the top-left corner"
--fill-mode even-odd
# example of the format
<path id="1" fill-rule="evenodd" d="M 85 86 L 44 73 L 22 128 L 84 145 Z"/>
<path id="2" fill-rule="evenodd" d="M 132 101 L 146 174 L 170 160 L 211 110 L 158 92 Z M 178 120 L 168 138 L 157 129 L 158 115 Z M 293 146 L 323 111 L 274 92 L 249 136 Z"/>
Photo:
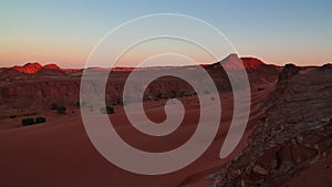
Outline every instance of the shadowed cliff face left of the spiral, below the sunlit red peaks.
<path id="1" fill-rule="evenodd" d="M 51 103 L 74 105 L 79 101 L 79 79 L 33 79 L 0 85 L 0 110 L 8 114 L 50 108 Z"/>

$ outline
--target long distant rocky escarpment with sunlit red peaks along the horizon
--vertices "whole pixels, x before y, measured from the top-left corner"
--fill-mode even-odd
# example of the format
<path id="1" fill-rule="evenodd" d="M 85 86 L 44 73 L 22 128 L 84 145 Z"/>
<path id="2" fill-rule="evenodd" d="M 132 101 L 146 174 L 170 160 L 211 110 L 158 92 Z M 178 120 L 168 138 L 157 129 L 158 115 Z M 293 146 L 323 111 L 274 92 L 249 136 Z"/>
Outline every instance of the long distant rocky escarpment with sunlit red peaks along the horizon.
<path id="1" fill-rule="evenodd" d="M 248 72 L 250 84 L 257 85 L 262 82 L 276 82 L 279 67 L 268 65 L 258 59 L 240 59 L 235 54 L 229 55 L 220 63 L 230 65 L 234 61 L 241 61 Z M 205 65 L 219 92 L 231 91 L 228 76 L 220 63 Z M 167 67 L 141 69 L 141 73 L 158 73 Z M 110 70 L 91 69 L 92 71 Z M 195 73 L 197 67 L 172 67 L 180 73 Z M 105 91 L 107 104 L 122 104 L 122 91 L 131 69 L 116 69 L 111 73 Z M 80 82 L 82 71 L 63 70 L 55 64 L 40 65 L 28 63 L 23 66 L 0 69 L 0 110 L 2 114 L 17 114 L 23 111 L 39 111 L 50 108 L 51 103 L 65 106 L 75 105 L 80 98 Z M 204 81 L 197 79 L 198 81 Z M 139 81 L 139 80 L 137 80 Z M 163 77 L 148 85 L 145 92 L 145 100 L 172 97 L 176 92 L 177 96 L 195 94 L 193 87 L 183 80 L 176 77 Z M 160 95 L 162 94 L 162 95 Z"/>

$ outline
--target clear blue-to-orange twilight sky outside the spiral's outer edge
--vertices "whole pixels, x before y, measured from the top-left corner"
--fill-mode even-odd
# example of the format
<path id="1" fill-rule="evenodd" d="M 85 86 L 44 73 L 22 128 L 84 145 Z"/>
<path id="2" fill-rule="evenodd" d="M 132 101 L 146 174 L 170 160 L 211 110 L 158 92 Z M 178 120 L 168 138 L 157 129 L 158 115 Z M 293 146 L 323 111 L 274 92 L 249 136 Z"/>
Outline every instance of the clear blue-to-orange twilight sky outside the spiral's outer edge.
<path id="1" fill-rule="evenodd" d="M 331 10 L 328 0 L 0 0 L 0 66 L 38 61 L 83 67 L 111 30 L 152 13 L 207 21 L 241 56 L 321 65 L 332 62 Z"/>

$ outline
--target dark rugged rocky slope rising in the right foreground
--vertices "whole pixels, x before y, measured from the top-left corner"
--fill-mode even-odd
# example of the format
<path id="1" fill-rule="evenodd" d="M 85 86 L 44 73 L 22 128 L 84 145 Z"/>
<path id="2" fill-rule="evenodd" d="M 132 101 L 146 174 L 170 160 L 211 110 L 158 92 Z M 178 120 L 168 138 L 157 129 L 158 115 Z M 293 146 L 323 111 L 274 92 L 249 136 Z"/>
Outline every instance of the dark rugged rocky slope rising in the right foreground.
<path id="1" fill-rule="evenodd" d="M 332 70 L 301 70 L 295 65 L 283 69 L 247 146 L 209 176 L 210 186 L 284 186 L 331 155 Z M 329 186 L 332 180 L 320 183 Z"/>

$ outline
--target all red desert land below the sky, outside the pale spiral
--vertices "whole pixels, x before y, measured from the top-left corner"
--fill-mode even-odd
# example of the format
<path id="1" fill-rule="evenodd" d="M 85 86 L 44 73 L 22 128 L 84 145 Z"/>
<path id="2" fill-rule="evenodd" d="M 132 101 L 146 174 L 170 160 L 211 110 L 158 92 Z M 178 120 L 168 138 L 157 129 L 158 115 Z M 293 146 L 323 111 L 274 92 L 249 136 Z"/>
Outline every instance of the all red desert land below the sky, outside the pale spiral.
<path id="1" fill-rule="evenodd" d="M 234 115 L 234 93 L 221 64 L 228 67 L 235 61 L 243 63 L 249 77 L 250 116 L 240 144 L 231 155 L 220 159 L 220 147 Z M 0 186 L 332 185 L 331 64 L 280 66 L 230 54 L 220 62 L 201 66 L 218 90 L 205 96 L 210 103 L 216 97 L 221 101 L 217 135 L 191 165 L 156 176 L 125 172 L 98 154 L 84 129 L 81 108 L 107 113 L 116 132 L 133 147 L 153 153 L 174 149 L 187 142 L 197 127 L 200 105 L 193 87 L 173 76 L 155 80 L 146 87 L 142 113 L 151 121 L 165 120 L 165 103 L 170 98 L 179 100 L 185 107 L 179 128 L 167 136 L 154 137 L 142 134 L 128 122 L 124 105 L 136 101 L 124 102 L 123 86 L 132 71 L 152 73 L 172 69 L 186 73 L 196 71 L 196 66 L 91 67 L 89 71 L 111 72 L 105 90 L 106 108 L 93 108 L 80 101 L 84 69 L 38 62 L 1 67 Z"/>

